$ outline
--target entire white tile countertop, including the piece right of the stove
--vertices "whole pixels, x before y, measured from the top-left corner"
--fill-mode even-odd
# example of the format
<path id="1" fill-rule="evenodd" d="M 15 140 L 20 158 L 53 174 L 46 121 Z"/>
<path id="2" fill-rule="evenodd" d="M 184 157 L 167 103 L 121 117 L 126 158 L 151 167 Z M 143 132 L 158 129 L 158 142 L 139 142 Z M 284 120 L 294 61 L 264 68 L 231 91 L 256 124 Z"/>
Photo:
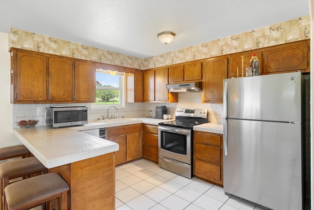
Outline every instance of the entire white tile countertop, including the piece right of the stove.
<path id="1" fill-rule="evenodd" d="M 172 120 L 174 119 L 163 120 L 142 117 L 128 122 L 103 123 L 89 121 L 82 126 L 65 128 L 51 128 L 49 126 L 35 126 L 27 129 L 15 128 L 13 134 L 45 167 L 54 168 L 119 150 L 119 145 L 114 142 L 78 131 L 137 123 L 158 125 L 159 122 Z M 222 134 L 222 124 L 209 122 L 194 126 L 193 129 Z"/>

